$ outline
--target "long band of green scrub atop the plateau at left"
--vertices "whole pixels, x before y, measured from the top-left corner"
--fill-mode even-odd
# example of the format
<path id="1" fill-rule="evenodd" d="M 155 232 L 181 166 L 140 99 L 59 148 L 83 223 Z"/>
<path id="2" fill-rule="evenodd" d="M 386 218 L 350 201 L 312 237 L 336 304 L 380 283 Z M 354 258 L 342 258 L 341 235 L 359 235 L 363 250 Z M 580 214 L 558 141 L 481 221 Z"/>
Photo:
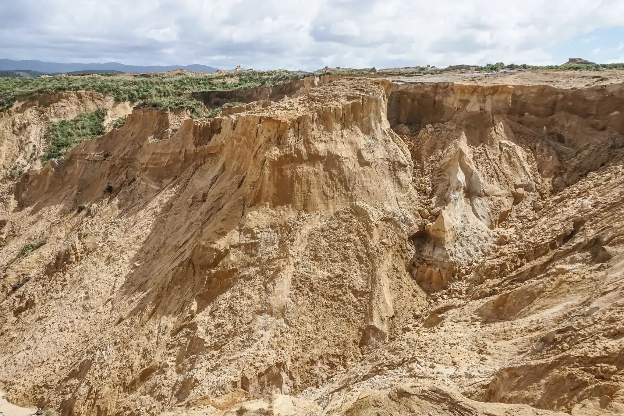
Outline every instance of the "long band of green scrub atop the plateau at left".
<path id="1" fill-rule="evenodd" d="M 145 76 L 149 75 L 149 76 Z M 0 78 L 0 112 L 13 105 L 17 96 L 36 96 L 46 91 L 95 91 L 112 95 L 117 100 L 143 102 L 155 108 L 182 108 L 180 105 L 197 113 L 197 107 L 190 94 L 208 90 L 232 90 L 240 87 L 259 87 L 275 85 L 293 79 L 302 79 L 311 75 L 303 71 L 242 71 L 227 74 L 169 74 L 154 72 L 134 76 L 107 77 L 43 77 L 43 78 Z M 181 100 L 172 100 L 184 98 Z"/>

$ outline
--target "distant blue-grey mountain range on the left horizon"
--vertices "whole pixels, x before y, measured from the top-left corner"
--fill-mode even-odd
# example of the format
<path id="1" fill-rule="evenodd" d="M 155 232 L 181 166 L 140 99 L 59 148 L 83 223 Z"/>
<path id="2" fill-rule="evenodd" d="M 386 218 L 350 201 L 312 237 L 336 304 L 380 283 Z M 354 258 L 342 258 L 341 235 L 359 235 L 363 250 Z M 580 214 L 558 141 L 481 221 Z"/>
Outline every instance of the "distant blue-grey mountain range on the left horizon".
<path id="1" fill-rule="evenodd" d="M 43 62 L 41 60 L 12 60 L 0 59 L 0 70 L 31 70 L 42 72 L 44 74 L 59 74 L 76 71 L 90 70 L 115 70 L 120 72 L 128 72 L 137 74 L 139 72 L 167 72 L 172 69 L 185 69 L 188 71 L 199 72 L 216 72 L 217 69 L 208 65 L 192 64 L 192 65 L 169 65 L 169 66 L 150 66 L 143 67 L 139 65 L 124 65 L 119 62 L 106 62 L 105 64 L 60 64 L 58 62 Z"/>

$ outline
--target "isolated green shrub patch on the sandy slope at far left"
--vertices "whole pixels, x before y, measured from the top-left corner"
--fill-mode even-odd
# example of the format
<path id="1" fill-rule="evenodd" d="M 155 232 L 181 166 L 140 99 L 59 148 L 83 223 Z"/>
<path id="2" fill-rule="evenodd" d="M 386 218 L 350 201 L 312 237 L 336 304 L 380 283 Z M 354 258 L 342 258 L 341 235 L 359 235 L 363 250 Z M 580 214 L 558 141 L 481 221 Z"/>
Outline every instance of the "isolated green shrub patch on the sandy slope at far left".
<path id="1" fill-rule="evenodd" d="M 50 143 L 50 148 L 46 150 L 42 159 L 46 161 L 67 155 L 82 140 L 89 140 L 104 134 L 103 122 L 106 114 L 106 109 L 100 109 L 92 113 L 79 114 L 72 120 L 50 123 L 44 136 Z"/>

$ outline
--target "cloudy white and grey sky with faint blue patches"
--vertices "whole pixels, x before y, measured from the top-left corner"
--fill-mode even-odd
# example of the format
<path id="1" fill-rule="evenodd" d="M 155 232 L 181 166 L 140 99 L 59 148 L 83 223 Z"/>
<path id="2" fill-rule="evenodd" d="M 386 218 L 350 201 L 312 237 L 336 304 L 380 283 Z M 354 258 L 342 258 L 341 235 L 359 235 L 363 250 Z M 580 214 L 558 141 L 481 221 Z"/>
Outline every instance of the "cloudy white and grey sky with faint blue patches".
<path id="1" fill-rule="evenodd" d="M 1 0 L 0 58 L 316 70 L 624 62 L 624 0 Z"/>

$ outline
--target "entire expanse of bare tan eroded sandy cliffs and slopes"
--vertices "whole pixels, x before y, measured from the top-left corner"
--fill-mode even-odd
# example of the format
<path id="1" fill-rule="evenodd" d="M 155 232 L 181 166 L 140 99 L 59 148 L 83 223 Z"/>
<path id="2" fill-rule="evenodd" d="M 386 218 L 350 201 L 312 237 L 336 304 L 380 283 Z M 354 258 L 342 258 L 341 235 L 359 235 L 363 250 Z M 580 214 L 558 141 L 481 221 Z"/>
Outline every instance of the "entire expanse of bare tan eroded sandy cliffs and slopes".
<path id="1" fill-rule="evenodd" d="M 18 102 L 0 115 L 6 399 L 92 416 L 624 413 L 623 80 L 311 78 L 213 119 L 134 109 L 14 181 L 49 120 L 131 109 Z"/>

